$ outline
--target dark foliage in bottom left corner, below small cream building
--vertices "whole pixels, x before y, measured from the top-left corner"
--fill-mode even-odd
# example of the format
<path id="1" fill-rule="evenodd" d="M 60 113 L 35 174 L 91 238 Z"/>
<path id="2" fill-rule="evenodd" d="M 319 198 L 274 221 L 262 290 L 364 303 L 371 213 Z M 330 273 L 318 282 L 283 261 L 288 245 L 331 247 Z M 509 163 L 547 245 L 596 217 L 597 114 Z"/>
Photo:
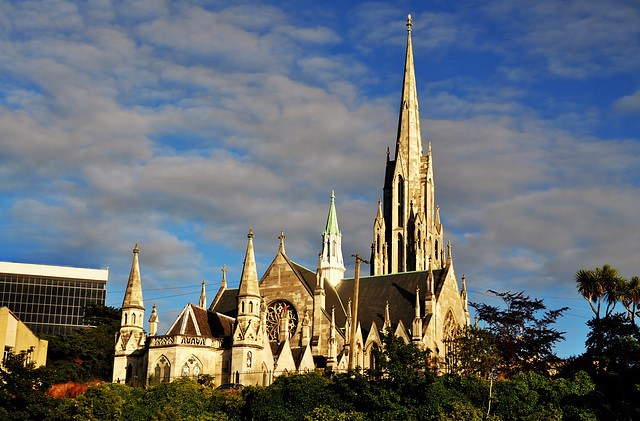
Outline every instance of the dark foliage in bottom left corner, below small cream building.
<path id="1" fill-rule="evenodd" d="M 55 401 L 47 396 L 53 373 L 27 363 L 26 352 L 9 353 L 0 368 L 0 417 L 7 420 L 41 420 L 51 416 Z"/>

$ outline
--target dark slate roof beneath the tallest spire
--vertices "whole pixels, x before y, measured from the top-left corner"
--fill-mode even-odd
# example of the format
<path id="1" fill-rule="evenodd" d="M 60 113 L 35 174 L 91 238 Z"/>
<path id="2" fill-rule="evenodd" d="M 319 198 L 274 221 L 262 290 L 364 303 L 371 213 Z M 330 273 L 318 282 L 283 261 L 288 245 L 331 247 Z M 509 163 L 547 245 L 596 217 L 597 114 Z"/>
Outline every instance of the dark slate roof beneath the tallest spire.
<path id="1" fill-rule="evenodd" d="M 442 288 L 446 269 L 433 271 L 436 292 Z M 389 302 L 389 317 L 395 327 L 399 320 L 411 328 L 416 303 L 416 288 L 420 288 L 420 315 L 424 317 L 424 299 L 427 292 L 429 271 L 403 272 L 392 275 L 361 276 L 358 306 L 358 319 L 363 331 L 368 332 L 372 322 L 379 328 L 384 325 L 384 309 Z M 353 297 L 353 278 L 346 278 L 337 285 L 342 302 Z M 436 294 L 437 295 L 437 294 Z"/>

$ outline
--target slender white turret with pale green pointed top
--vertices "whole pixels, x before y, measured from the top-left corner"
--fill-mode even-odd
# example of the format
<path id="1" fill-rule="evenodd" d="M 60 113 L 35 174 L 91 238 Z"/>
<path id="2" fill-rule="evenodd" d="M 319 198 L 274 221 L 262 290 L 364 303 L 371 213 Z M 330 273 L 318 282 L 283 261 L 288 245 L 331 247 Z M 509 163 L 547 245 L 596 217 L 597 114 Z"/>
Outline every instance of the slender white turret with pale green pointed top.
<path id="1" fill-rule="evenodd" d="M 320 263 L 322 276 L 333 286 L 336 286 L 344 278 L 345 271 L 342 259 L 342 233 L 338 228 L 335 198 L 335 194 L 331 191 L 327 226 L 322 233 L 322 261 Z"/>

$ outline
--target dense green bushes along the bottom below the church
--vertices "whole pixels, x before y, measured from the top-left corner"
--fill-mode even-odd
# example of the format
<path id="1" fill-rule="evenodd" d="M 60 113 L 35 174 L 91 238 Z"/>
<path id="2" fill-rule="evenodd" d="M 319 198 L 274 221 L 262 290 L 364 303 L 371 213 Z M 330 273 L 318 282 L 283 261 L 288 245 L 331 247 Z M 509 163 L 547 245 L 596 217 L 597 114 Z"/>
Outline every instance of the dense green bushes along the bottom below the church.
<path id="1" fill-rule="evenodd" d="M 402 389 L 359 373 L 325 378 L 319 373 L 280 376 L 269 387 L 247 387 L 242 394 L 223 394 L 189 379 L 146 389 L 124 384 L 90 386 L 77 398 L 39 395 L 43 420 L 589 420 L 599 409 L 594 383 L 585 373 L 573 379 L 548 379 L 519 374 L 493 385 L 479 377 L 432 377 L 413 389 Z M 15 402 L 15 398 L 13 399 Z M 4 395 L 4 418 L 13 413 L 12 397 Z M 31 406 L 28 406 L 31 408 Z M 606 414 L 600 412 L 600 414 Z M 606 416 L 606 415 L 605 415 Z"/>

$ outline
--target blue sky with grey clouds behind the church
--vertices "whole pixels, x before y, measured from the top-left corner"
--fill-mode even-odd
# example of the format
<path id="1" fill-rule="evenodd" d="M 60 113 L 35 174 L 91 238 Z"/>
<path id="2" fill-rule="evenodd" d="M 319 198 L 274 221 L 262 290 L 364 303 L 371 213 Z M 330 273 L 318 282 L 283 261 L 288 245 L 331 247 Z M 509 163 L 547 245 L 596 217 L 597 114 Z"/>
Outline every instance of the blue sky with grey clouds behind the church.
<path id="1" fill-rule="evenodd" d="M 640 4 L 0 2 L 0 260 L 110 268 L 120 306 L 140 247 L 161 330 L 249 227 L 258 271 L 284 230 L 315 268 L 331 190 L 368 256 L 406 45 L 436 202 L 470 301 L 487 289 L 591 317 L 573 274 L 640 275 Z M 365 268 L 365 271 L 368 269 Z"/>

